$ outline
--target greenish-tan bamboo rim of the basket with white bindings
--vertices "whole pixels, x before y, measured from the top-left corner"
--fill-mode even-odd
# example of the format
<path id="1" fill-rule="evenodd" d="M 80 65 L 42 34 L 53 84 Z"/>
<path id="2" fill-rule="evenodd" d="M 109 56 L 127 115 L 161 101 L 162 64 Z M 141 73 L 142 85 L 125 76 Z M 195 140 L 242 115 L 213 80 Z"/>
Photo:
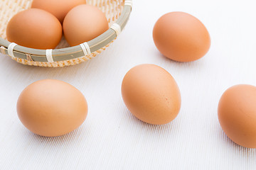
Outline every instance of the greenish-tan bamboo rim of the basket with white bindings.
<path id="1" fill-rule="evenodd" d="M 92 52 L 97 52 L 97 50 L 107 46 L 110 44 L 110 42 L 116 39 L 119 33 L 121 33 L 126 26 L 131 11 L 132 0 L 125 0 L 121 15 L 107 31 L 99 35 L 97 38 L 94 38 L 88 42 L 83 42 L 80 45 L 54 50 L 38 50 L 29 47 L 23 47 L 22 45 L 16 45 L 13 42 L 9 42 L 8 40 L 0 38 L 0 53 L 32 62 L 61 62 L 84 57 L 90 55 Z"/>

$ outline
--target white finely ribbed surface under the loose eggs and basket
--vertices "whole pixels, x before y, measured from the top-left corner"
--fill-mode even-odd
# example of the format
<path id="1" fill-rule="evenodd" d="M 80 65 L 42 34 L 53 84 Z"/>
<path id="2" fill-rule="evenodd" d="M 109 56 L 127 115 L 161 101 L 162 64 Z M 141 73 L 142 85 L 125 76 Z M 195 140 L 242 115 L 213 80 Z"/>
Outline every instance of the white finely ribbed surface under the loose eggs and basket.
<path id="1" fill-rule="evenodd" d="M 152 29 L 164 13 L 186 11 L 208 28 L 212 45 L 201 60 L 162 57 Z M 255 1 L 134 0 L 127 28 L 102 55 L 58 69 L 23 66 L 1 55 L 0 169 L 256 169 L 255 149 L 235 145 L 218 123 L 218 100 L 229 86 L 256 84 Z M 127 111 L 120 92 L 132 67 L 157 64 L 181 90 L 176 120 L 147 125 Z M 21 91 L 39 79 L 60 79 L 87 98 L 78 130 L 40 137 L 18 120 Z"/>

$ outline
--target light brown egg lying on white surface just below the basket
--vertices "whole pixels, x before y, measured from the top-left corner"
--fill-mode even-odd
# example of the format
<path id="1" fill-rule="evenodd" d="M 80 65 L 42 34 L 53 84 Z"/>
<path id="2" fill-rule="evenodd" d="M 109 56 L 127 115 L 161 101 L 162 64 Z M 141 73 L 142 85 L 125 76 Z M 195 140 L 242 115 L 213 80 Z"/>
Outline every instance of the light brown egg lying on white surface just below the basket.
<path id="1" fill-rule="evenodd" d="M 63 81 L 36 81 L 18 98 L 21 123 L 37 135 L 54 137 L 78 128 L 87 116 L 87 101 L 78 89 Z"/>

